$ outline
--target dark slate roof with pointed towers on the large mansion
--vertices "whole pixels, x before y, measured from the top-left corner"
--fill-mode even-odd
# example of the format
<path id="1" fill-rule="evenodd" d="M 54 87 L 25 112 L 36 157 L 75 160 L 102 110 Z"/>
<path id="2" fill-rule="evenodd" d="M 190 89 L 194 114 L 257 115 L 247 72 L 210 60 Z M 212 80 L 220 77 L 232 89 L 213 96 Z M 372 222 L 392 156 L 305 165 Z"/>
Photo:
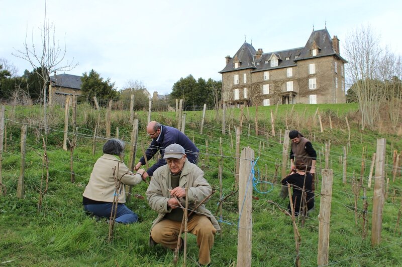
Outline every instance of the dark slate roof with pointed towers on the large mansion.
<path id="1" fill-rule="evenodd" d="M 239 51 L 237 51 L 237 53 L 229 61 L 226 67 L 219 73 L 238 71 L 242 69 L 253 69 L 252 72 L 259 72 L 259 71 L 296 66 L 296 61 L 298 60 L 313 58 L 311 56 L 310 50 L 314 42 L 319 48 L 319 53 L 317 54 L 317 56 L 315 56 L 315 58 L 334 55 L 338 57 L 340 60 L 343 60 L 345 63 L 347 63 L 347 61 L 343 59 L 339 54 L 335 53 L 334 47 L 332 45 L 331 36 L 328 33 L 327 29 L 324 29 L 324 30 L 313 31 L 304 47 L 264 53 L 261 55 L 259 59 L 257 59 L 256 57 L 256 50 L 254 49 L 254 47 L 245 42 L 239 49 Z M 278 66 L 276 67 L 270 66 L 269 61 L 272 57 L 272 54 L 274 54 L 278 58 Z M 235 69 L 234 65 L 234 60 L 236 56 L 241 63 L 237 69 Z M 286 60 L 286 58 L 289 59 Z"/>

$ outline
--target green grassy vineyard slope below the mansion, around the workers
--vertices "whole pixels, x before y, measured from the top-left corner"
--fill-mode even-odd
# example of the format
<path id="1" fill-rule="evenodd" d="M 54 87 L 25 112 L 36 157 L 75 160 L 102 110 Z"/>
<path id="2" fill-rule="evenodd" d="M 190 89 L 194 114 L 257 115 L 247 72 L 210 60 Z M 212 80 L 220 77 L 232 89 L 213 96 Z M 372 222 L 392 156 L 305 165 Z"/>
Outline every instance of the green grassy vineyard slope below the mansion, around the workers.
<path id="1" fill-rule="evenodd" d="M 318 110 L 317 110 L 318 108 Z M 147 204 L 146 183 L 133 187 L 133 195 L 126 204 L 139 214 L 141 222 L 132 225 L 116 225 L 114 239 L 108 242 L 109 225 L 105 220 L 95 221 L 85 215 L 82 209 L 82 192 L 89 180 L 92 166 L 102 155 L 105 142 L 106 110 L 96 111 L 89 105 L 78 106 L 77 146 L 73 153 L 75 182 L 70 182 L 70 151 L 62 149 L 64 129 L 64 109 L 50 107 L 48 121 L 50 133 L 47 136 L 49 158 L 49 189 L 43 198 L 41 212 L 37 211 L 41 178 L 46 176 L 43 168 L 43 147 L 41 140 L 41 110 L 37 107 L 6 107 L 6 146 L 2 161 L 2 179 L 7 194 L 0 196 L 0 265 L 4 266 L 173 266 L 173 253 L 161 246 L 148 246 L 149 229 L 156 212 Z M 400 169 L 392 182 L 393 151 L 400 153 L 402 141 L 396 133 L 359 131 L 359 114 L 356 104 L 337 105 L 281 105 L 271 107 L 228 109 L 226 112 L 226 134 L 222 134 L 222 111 L 207 111 L 203 134 L 200 134 L 202 111 L 186 112 L 185 133 L 200 149 L 201 161 L 198 166 L 205 171 L 205 177 L 217 189 L 207 203 L 215 213 L 218 210 L 220 185 L 218 180 L 218 160 L 220 138 L 223 151 L 223 198 L 234 191 L 235 169 L 235 130 L 243 113 L 241 148 L 250 146 L 256 158 L 256 176 L 267 179 L 272 186 L 256 186 L 253 190 L 253 228 L 252 228 L 252 266 L 291 266 L 296 258 L 293 227 L 288 216 L 275 205 L 286 208 L 288 199 L 279 198 L 280 165 L 282 160 L 283 133 L 287 128 L 298 129 L 308 137 L 318 153 L 317 169 L 319 184 L 316 187 L 315 211 L 302 226 L 297 221 L 301 236 L 299 251 L 303 266 L 317 265 L 318 214 L 320 210 L 321 170 L 325 165 L 325 144 L 330 143 L 330 168 L 334 170 L 331 207 L 331 233 L 329 246 L 329 265 L 337 266 L 395 266 L 402 262 L 400 254 L 399 225 L 395 228 L 400 212 L 402 197 Z M 275 136 L 272 134 L 271 113 L 275 123 Z M 257 116 L 258 135 L 255 129 Z M 131 125 L 128 111 L 112 112 L 112 136 L 119 127 L 119 137 L 130 148 Z M 346 119 L 350 124 L 349 135 Z M 100 131 L 97 133 L 97 147 L 92 155 L 92 139 L 96 122 L 100 118 Z M 145 135 L 147 113 L 138 112 L 139 139 L 137 159 L 141 147 L 146 148 L 150 139 Z M 321 132 L 319 118 L 322 120 Z M 331 118 L 331 119 L 330 119 Z M 177 127 L 175 113 L 153 113 L 152 120 Z M 71 120 L 71 113 L 70 113 Z M 330 122 L 332 130 L 330 129 Z M 25 197 L 16 197 L 18 177 L 20 176 L 21 152 L 20 134 L 22 124 L 28 125 L 28 140 L 25 168 Z M 228 131 L 229 129 L 229 131 Z M 386 127 L 382 132 L 386 132 Z M 69 127 L 72 132 L 72 127 Z M 280 133 L 282 132 L 282 138 Z M 71 133 L 68 135 L 72 140 Z M 376 139 L 386 138 L 386 178 L 387 198 L 383 205 L 382 240 L 378 246 L 371 246 L 371 217 L 373 184 L 367 188 L 367 178 L 372 154 L 376 151 Z M 207 142 L 208 141 L 208 147 Z M 350 147 L 348 146 L 350 143 Z M 348 146 L 347 184 L 342 183 L 343 146 Z M 364 149 L 364 155 L 362 153 Z M 128 158 L 125 158 L 126 164 Z M 402 158 L 401 158 L 402 161 Z M 152 164 L 152 162 L 151 162 Z M 363 186 L 368 201 L 367 236 L 362 239 L 363 189 L 358 193 L 358 218 L 355 223 L 355 195 L 352 183 L 360 179 L 363 164 Z M 279 166 L 279 167 L 277 167 Z M 277 172 L 275 172 L 275 167 Z M 275 173 L 277 175 L 275 175 Z M 385 178 L 385 182 L 386 182 Z M 213 266 L 235 266 L 237 261 L 238 236 L 238 195 L 232 194 L 223 203 L 222 232 L 215 238 L 211 251 Z M 196 266 L 198 248 L 191 234 L 188 241 L 188 266 Z M 179 265 L 182 254 L 179 255 Z"/>

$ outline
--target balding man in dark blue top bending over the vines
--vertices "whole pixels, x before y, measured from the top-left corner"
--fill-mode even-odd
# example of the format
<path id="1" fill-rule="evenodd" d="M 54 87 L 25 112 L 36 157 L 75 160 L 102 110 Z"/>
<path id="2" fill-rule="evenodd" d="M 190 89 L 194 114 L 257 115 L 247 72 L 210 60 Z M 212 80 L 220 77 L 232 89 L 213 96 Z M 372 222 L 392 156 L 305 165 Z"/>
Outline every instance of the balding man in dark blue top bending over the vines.
<path id="1" fill-rule="evenodd" d="M 165 154 L 165 148 L 171 144 L 181 145 L 185 150 L 188 161 L 194 164 L 197 163 L 199 153 L 198 148 L 185 134 L 176 128 L 162 125 L 157 121 L 151 121 L 147 125 L 147 135 L 152 138 L 152 142 L 145 152 L 147 160 L 150 160 L 158 150 L 160 151 L 161 158 L 143 173 L 143 178 L 152 176 L 157 168 L 166 164 L 166 160 L 163 158 L 163 155 Z M 144 164 L 145 158 L 143 156 L 140 158 L 140 161 L 137 163 L 137 165 L 135 165 L 135 169 L 138 170 L 141 165 Z"/>

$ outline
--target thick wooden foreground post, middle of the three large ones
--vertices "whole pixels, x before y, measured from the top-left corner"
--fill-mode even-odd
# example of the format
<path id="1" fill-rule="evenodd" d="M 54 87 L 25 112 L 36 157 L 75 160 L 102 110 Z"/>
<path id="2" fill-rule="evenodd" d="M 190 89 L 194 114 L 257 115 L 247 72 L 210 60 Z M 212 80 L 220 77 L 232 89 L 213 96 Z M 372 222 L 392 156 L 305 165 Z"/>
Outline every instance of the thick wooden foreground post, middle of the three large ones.
<path id="1" fill-rule="evenodd" d="M 318 215 L 317 265 L 319 266 L 328 264 L 333 170 L 323 170 L 322 174 L 320 214 Z"/>

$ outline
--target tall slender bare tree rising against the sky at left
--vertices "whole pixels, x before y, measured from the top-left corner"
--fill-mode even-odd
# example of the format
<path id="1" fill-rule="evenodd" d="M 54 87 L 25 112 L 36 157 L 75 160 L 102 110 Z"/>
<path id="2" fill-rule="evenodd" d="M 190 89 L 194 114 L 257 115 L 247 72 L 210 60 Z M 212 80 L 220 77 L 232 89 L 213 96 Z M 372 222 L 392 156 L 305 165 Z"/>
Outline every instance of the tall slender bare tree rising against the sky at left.
<path id="1" fill-rule="evenodd" d="M 38 75 L 43 80 L 43 123 L 45 133 L 48 132 L 47 129 L 47 117 L 46 117 L 46 107 L 47 107 L 47 88 L 49 86 L 49 75 L 56 71 L 70 71 L 75 66 L 67 61 L 65 65 L 61 65 L 64 61 L 66 55 L 65 40 L 64 49 L 60 48 L 60 41 L 56 41 L 55 27 L 53 23 L 50 23 L 46 18 L 46 1 L 45 1 L 45 15 L 43 25 L 41 24 L 39 28 L 41 32 L 41 42 L 42 44 L 36 46 L 34 43 L 34 31 L 32 30 L 32 44 L 28 45 L 28 28 L 25 36 L 25 49 L 17 50 L 18 53 L 13 54 L 14 56 L 28 61 L 31 66 L 36 70 Z"/>

